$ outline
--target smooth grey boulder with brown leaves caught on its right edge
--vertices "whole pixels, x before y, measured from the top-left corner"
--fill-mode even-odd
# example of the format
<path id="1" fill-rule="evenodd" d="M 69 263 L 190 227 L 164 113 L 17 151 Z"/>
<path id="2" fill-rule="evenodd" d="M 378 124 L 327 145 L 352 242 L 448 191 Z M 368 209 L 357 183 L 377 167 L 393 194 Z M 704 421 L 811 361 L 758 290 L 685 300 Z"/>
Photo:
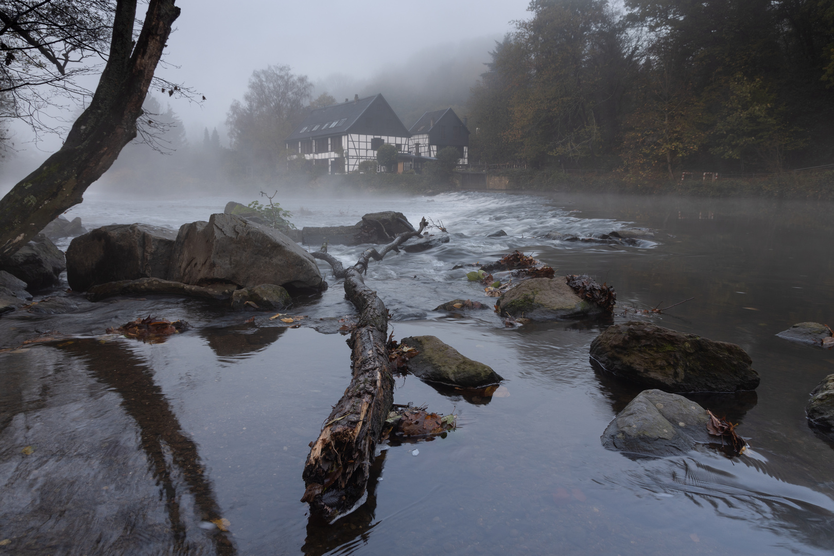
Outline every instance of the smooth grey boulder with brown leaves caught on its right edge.
<path id="1" fill-rule="evenodd" d="M 683 396 L 643 390 L 605 428 L 602 445 L 610 450 L 669 456 L 686 453 L 710 438 L 706 409 Z"/>

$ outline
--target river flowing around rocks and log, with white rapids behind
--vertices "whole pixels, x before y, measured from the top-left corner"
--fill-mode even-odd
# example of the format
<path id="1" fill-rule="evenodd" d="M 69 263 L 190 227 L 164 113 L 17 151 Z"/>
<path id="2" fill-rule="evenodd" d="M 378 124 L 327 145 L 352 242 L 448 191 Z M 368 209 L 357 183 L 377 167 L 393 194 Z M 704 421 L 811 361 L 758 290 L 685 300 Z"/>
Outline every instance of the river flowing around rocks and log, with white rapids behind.
<path id="1" fill-rule="evenodd" d="M 88 228 L 177 228 L 229 200 L 93 196 L 67 216 Z M 392 209 L 412 223 L 442 221 L 450 243 L 390 253 L 366 282 L 393 313 L 394 338 L 440 337 L 500 373 L 504 395 L 462 398 L 398 378 L 395 403 L 458 413 L 459 428 L 380 444 L 364 504 L 320 523 L 299 502 L 301 472 L 349 383 L 344 335 L 166 296 L 9 313 L 2 348 L 51 331 L 72 338 L 0 354 L 0 554 L 831 553 L 834 441 L 808 427 L 804 407 L 834 373 L 834 352 L 775 336 L 831 322 L 830 203 L 469 192 L 282 204 L 299 228 Z M 640 247 L 535 238 L 633 226 L 656 238 Z M 486 237 L 499 229 L 508 235 Z M 613 318 L 506 328 L 491 311 L 432 310 L 455 298 L 490 302 L 452 268 L 515 249 L 557 275 L 613 285 Z M 360 251 L 330 248 L 344 262 Z M 330 288 L 291 309 L 307 323 L 354 314 L 321 268 Z M 623 316 L 687 298 L 666 313 Z M 157 344 L 101 337 L 148 314 L 192 328 Z M 750 354 L 755 393 L 693 397 L 740 423 L 746 453 L 635 458 L 602 447 L 600 434 L 640 388 L 596 373 L 588 348 L 610 323 L 634 318 Z"/>

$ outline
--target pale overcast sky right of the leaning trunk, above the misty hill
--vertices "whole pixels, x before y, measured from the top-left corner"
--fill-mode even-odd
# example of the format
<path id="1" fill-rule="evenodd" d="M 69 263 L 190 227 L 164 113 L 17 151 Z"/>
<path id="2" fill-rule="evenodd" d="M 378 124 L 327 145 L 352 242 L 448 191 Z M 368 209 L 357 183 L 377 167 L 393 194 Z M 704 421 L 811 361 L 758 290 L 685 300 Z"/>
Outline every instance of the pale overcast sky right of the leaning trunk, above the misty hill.
<path id="1" fill-rule="evenodd" d="M 398 60 L 440 43 L 503 34 L 526 18 L 528 0 L 354 0 L 269 2 L 181 0 L 166 61 L 158 72 L 203 93 L 202 108 L 173 103 L 193 128 L 225 119 L 249 76 L 286 64 L 316 80 L 332 73 L 367 78 Z M 357 92 L 358 93 L 358 92 Z M 384 91 L 382 92 L 384 93 Z"/>

